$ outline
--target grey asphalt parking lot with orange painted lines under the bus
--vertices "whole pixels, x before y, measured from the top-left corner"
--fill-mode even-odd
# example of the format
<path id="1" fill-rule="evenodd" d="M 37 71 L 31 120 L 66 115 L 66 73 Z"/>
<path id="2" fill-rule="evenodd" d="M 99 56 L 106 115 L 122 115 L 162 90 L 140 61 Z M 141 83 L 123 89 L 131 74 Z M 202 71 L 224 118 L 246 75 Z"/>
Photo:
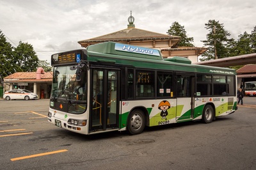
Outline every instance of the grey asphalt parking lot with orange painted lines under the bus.
<path id="1" fill-rule="evenodd" d="M 81 135 L 47 122 L 49 100 L 0 100 L 1 169 L 255 169 L 256 98 L 234 114 L 146 128 L 140 135 Z"/>

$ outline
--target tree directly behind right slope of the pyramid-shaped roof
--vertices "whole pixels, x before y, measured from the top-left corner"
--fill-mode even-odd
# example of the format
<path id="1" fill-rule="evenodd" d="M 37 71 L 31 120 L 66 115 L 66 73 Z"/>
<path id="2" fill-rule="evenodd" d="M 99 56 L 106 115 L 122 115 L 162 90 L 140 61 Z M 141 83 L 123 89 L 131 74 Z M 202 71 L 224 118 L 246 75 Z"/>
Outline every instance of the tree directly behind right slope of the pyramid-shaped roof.
<path id="1" fill-rule="evenodd" d="M 180 36 L 180 42 L 178 43 L 181 47 L 195 47 L 193 37 L 188 37 L 184 26 L 180 26 L 179 22 L 173 22 L 170 29 L 168 29 L 168 35 Z"/>

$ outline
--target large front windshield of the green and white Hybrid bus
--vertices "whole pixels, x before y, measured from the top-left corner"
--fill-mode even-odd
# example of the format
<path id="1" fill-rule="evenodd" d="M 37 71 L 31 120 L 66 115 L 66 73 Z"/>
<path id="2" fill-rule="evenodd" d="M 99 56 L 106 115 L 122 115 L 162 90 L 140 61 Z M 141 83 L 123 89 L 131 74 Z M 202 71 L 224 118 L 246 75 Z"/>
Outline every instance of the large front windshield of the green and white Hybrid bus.
<path id="1" fill-rule="evenodd" d="M 86 100 L 86 79 L 77 81 L 73 66 L 55 66 L 53 70 L 52 93 L 53 98 L 64 98 L 66 100 Z M 86 75 L 82 71 L 83 75 Z"/>

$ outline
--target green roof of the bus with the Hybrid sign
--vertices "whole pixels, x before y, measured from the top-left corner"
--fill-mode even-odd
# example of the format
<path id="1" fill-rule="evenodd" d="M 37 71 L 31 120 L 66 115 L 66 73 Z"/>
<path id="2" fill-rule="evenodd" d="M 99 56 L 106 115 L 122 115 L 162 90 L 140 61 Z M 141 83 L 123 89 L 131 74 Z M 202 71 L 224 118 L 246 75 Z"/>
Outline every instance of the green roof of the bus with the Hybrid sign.
<path id="1" fill-rule="evenodd" d="M 88 61 L 131 65 L 137 68 L 156 68 L 180 72 L 216 73 L 236 75 L 236 70 L 216 66 L 193 65 L 187 58 L 173 57 L 163 59 L 157 49 L 138 47 L 129 44 L 104 42 L 87 47 Z"/>

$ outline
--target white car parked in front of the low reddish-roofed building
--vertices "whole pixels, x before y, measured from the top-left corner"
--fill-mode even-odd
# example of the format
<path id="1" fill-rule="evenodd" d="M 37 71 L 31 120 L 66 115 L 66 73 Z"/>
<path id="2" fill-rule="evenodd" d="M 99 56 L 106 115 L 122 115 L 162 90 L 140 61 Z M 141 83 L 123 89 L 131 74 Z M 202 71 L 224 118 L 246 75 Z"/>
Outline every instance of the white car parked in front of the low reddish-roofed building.
<path id="1" fill-rule="evenodd" d="M 38 95 L 28 91 L 27 89 L 13 89 L 10 91 L 4 92 L 3 98 L 5 100 L 29 100 L 29 99 L 37 99 Z"/>

